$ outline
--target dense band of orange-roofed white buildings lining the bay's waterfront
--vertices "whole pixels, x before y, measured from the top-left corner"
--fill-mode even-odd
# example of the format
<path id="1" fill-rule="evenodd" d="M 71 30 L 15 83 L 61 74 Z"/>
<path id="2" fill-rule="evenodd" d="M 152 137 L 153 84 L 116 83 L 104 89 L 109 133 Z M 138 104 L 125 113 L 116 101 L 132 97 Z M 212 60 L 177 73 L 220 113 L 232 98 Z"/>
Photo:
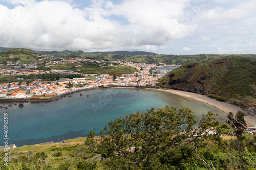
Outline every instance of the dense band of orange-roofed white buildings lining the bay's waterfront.
<path id="1" fill-rule="evenodd" d="M 0 84 L 1 98 L 30 98 L 40 94 L 63 94 L 71 91 L 90 89 L 99 86 L 156 86 L 160 77 L 153 77 L 143 74 L 144 71 L 133 74 L 122 74 L 114 77 L 108 74 L 101 74 L 95 79 L 74 78 L 58 82 L 47 82 L 34 80 L 32 83 L 12 82 Z"/>

